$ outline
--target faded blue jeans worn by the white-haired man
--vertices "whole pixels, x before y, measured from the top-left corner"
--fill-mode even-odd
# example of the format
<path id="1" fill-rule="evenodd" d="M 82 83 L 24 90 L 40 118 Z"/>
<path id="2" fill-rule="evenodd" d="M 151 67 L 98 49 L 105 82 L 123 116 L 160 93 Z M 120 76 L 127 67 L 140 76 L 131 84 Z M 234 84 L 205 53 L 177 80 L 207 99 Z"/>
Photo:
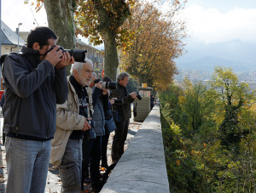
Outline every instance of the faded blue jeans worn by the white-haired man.
<path id="1" fill-rule="evenodd" d="M 62 192 L 79 193 L 82 176 L 82 141 L 68 139 L 66 150 L 59 167 Z"/>

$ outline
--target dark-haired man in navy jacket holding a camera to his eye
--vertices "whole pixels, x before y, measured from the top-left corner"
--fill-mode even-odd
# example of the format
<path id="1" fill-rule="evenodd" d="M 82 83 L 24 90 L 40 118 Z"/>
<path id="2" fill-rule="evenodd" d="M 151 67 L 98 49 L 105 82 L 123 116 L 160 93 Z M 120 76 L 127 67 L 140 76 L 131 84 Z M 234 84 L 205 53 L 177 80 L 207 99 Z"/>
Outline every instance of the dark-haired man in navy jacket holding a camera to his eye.
<path id="1" fill-rule="evenodd" d="M 67 100 L 66 66 L 74 62 L 70 54 L 57 50 L 59 46 L 49 51 L 56 42 L 48 27 L 37 27 L 28 35 L 22 54 L 9 54 L 3 63 L 9 193 L 44 193 L 56 103 Z"/>

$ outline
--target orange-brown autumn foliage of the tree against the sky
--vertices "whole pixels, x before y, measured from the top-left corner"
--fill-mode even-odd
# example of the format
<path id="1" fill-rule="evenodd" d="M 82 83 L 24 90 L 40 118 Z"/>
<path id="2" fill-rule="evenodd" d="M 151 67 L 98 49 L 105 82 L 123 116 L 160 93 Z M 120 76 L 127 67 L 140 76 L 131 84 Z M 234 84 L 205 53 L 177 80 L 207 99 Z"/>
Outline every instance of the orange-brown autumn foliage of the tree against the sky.
<path id="1" fill-rule="evenodd" d="M 125 40 L 119 47 L 121 67 L 136 77 L 139 85 L 146 82 L 149 87 L 164 90 L 177 74 L 174 59 L 183 54 L 186 37 L 183 22 L 175 20 L 175 15 L 183 9 L 180 2 L 172 1 L 166 13 L 154 3 L 138 2 L 120 27 L 129 34 L 120 37 Z"/>

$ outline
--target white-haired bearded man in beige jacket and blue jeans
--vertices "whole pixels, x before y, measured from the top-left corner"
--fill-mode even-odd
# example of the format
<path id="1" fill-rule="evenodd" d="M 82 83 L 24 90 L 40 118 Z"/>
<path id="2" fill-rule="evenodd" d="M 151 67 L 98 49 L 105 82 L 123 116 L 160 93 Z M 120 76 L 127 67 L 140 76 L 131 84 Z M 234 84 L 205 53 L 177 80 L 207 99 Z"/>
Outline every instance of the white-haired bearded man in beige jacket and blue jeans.
<path id="1" fill-rule="evenodd" d="M 90 129 L 88 122 L 88 94 L 93 65 L 91 60 L 72 65 L 67 77 L 68 95 L 63 105 L 57 105 L 56 132 L 51 142 L 50 163 L 59 166 L 62 192 L 80 192 L 82 167 L 82 139 Z"/>

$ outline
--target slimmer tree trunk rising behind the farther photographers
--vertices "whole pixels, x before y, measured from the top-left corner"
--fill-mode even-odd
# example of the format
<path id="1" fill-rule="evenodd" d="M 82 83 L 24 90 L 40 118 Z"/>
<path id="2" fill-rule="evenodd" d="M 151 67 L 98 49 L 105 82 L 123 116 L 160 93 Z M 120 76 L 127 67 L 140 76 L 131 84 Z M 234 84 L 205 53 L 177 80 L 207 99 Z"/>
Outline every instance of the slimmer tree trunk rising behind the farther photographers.
<path id="1" fill-rule="evenodd" d="M 119 66 L 119 59 L 117 54 L 116 42 L 114 34 L 111 31 L 102 33 L 104 37 L 105 48 L 105 69 L 104 75 L 116 81 L 117 68 Z"/>

